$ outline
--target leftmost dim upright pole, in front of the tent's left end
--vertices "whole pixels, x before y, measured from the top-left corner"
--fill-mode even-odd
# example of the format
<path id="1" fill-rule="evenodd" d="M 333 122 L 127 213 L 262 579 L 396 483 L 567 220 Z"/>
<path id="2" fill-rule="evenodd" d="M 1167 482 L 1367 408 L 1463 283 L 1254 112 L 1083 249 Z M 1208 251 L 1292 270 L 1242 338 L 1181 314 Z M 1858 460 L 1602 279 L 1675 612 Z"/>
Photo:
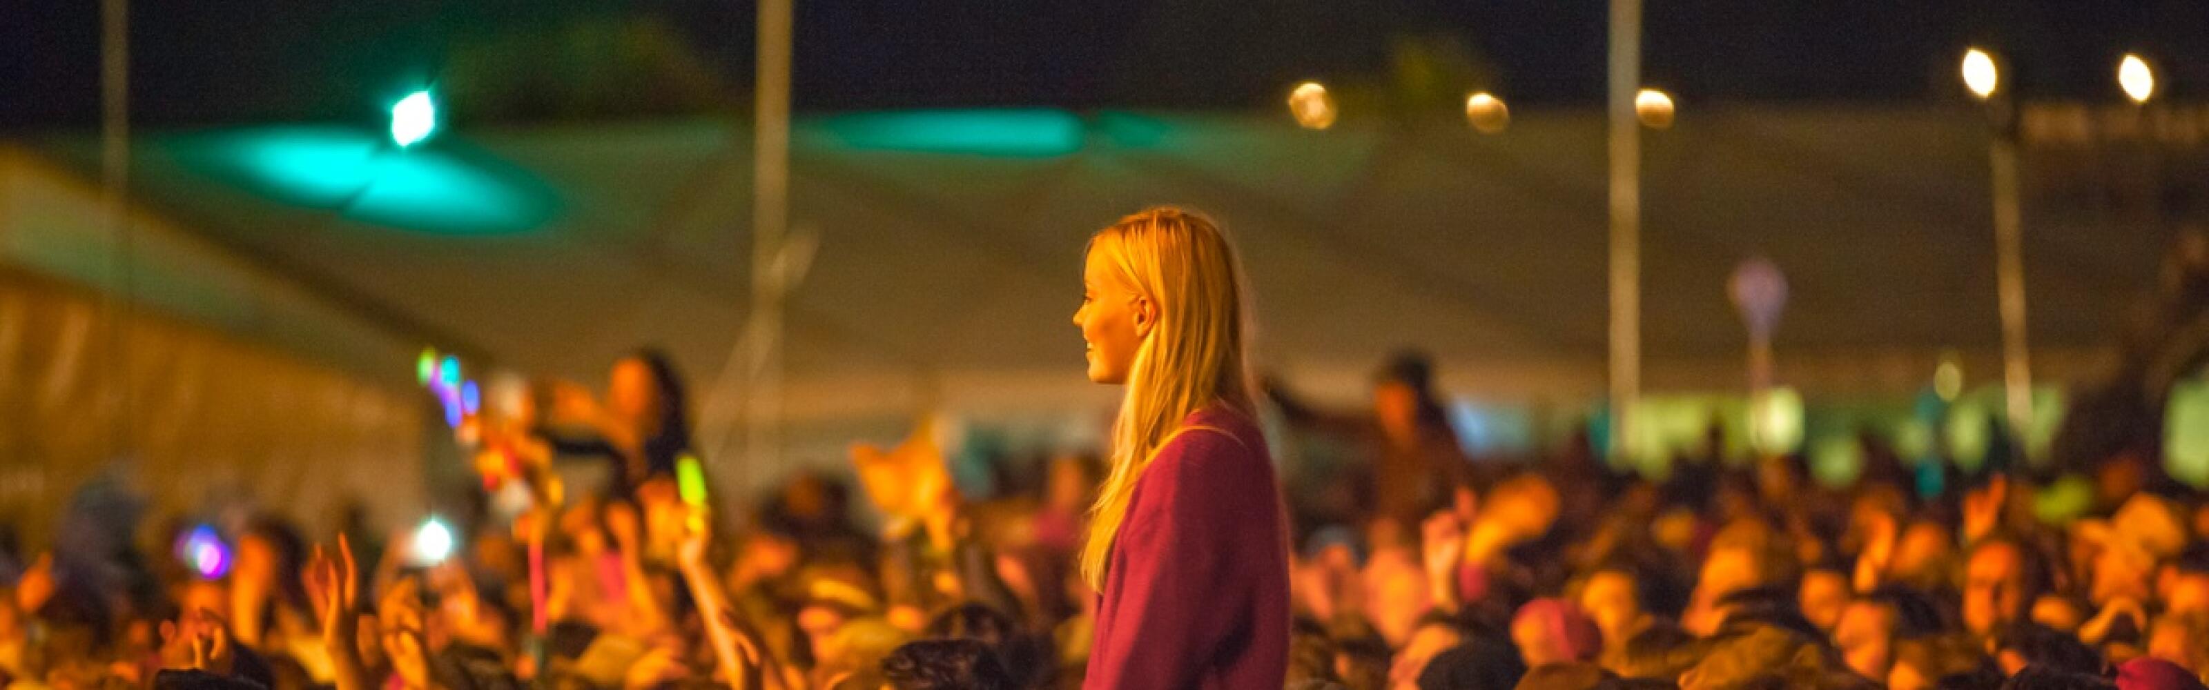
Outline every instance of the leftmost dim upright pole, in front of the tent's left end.
<path id="1" fill-rule="evenodd" d="M 99 170 L 108 226 L 108 389 L 115 396 L 110 458 L 130 451 L 130 2 L 99 2 Z"/>

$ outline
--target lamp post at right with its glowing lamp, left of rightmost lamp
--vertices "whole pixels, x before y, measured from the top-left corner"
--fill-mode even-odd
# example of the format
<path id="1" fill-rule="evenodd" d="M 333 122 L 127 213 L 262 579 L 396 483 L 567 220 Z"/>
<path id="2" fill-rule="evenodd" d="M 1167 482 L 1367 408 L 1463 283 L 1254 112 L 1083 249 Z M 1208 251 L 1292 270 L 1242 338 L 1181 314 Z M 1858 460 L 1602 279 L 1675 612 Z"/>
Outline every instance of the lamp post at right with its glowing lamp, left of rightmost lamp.
<path id="1" fill-rule="evenodd" d="M 2015 438 L 2032 425 L 2032 360 L 2026 347 L 2023 210 L 2017 190 L 2015 111 L 2001 95 L 2001 66 L 1981 49 L 1964 53 L 1964 86 L 1986 104 L 1988 181 L 1995 199 L 1995 294 L 2001 312 L 2004 414 Z"/>

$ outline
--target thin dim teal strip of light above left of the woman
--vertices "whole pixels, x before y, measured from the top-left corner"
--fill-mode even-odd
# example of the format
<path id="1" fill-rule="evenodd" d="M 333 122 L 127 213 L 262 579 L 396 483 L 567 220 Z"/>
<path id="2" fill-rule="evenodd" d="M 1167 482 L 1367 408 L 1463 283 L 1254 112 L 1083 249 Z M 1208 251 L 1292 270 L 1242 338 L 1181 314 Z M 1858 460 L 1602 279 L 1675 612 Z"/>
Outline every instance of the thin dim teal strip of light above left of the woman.
<path id="1" fill-rule="evenodd" d="M 1082 119 L 1067 111 L 895 111 L 822 119 L 820 135 L 873 150 L 1058 157 L 1082 150 Z"/>

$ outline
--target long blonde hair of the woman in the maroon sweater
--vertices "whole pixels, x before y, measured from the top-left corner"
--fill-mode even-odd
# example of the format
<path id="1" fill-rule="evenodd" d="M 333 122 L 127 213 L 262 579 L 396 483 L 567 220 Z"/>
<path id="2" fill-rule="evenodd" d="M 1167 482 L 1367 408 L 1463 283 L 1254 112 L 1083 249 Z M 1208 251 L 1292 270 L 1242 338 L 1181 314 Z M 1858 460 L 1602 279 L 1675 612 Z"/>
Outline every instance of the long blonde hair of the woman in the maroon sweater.
<path id="1" fill-rule="evenodd" d="M 1158 449 L 1206 405 L 1253 411 L 1244 369 L 1250 325 L 1235 248 L 1197 212 L 1173 206 L 1135 212 L 1091 237 L 1089 252 L 1104 252 L 1113 276 L 1158 307 L 1158 323 L 1135 345 L 1111 429 L 1111 473 L 1089 509 L 1082 542 L 1082 579 L 1104 590 L 1113 537 Z"/>

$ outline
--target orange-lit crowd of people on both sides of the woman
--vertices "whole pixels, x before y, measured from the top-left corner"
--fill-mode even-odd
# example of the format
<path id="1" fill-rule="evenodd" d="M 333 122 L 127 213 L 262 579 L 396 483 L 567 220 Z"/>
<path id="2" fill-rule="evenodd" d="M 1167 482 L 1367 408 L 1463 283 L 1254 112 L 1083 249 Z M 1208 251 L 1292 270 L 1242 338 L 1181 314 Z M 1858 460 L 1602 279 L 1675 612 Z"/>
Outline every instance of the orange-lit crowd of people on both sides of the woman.
<path id="1" fill-rule="evenodd" d="M 2202 688 L 2209 500 L 2138 456 L 2081 515 L 2006 462 L 1922 491 L 1869 453 L 1851 487 L 1800 458 L 1681 453 L 1663 480 L 1586 438 L 1467 458 L 1418 356 L 1341 414 L 1266 385 L 1292 524 L 1288 688 Z M 530 509 L 422 533 L 216 524 L 219 573 L 170 557 L 194 520 L 97 506 L 51 548 L 0 537 L 7 688 L 1078 688 L 1096 590 L 1078 568 L 1107 467 L 996 458 L 952 480 L 926 425 L 758 500 L 685 487 L 680 378 L 614 367 L 603 402 L 475 429 L 486 493 Z M 488 425 L 488 422 L 486 422 Z M 561 487 L 557 458 L 607 482 Z M 1283 453 L 1297 458 L 1297 453 Z M 570 462 L 570 460 L 561 460 Z M 80 502 L 82 504 L 82 502 Z M 484 502 L 490 504 L 488 500 Z M 857 515 L 868 515 L 862 522 Z M 82 520 L 77 520 L 82 518 Z M 879 520 L 875 520 L 879 518 Z"/>

